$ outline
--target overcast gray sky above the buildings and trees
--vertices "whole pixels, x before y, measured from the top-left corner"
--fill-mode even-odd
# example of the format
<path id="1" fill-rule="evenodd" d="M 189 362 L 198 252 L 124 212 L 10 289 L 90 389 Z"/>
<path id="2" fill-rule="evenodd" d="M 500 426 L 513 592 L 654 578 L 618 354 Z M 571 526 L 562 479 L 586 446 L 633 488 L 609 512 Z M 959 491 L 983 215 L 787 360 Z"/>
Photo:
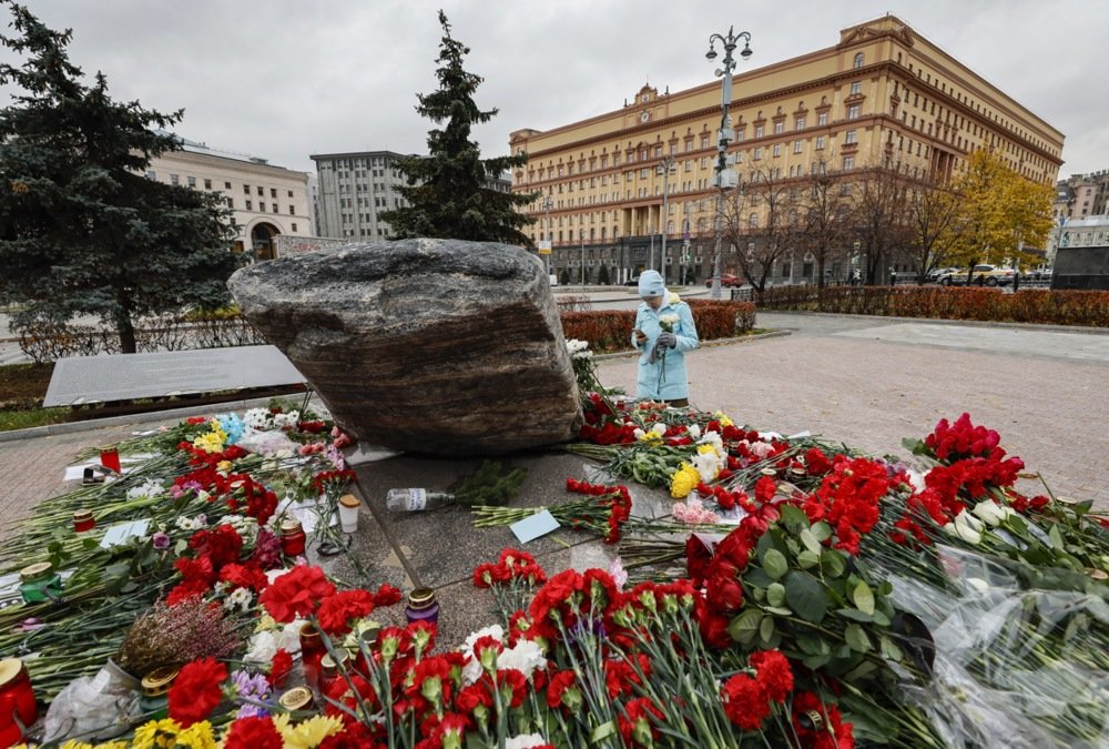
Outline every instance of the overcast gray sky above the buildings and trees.
<path id="1" fill-rule="evenodd" d="M 500 109 L 475 130 L 485 155 L 506 153 L 512 130 L 618 109 L 644 82 L 680 91 L 713 80 L 708 38 L 732 24 L 752 34 L 742 73 L 832 47 L 841 29 L 891 12 L 1062 131 L 1062 175 L 1109 168 L 1105 0 L 29 4 L 47 26 L 73 30 L 71 60 L 90 82 L 103 71 L 116 100 L 184 109 L 179 134 L 305 171 L 314 171 L 313 153 L 426 152 L 429 123 L 415 111 L 416 92 L 437 85 L 439 8 L 471 50 L 467 70 L 485 78 L 478 105 Z M 0 22 L 10 22 L 7 8 Z"/>

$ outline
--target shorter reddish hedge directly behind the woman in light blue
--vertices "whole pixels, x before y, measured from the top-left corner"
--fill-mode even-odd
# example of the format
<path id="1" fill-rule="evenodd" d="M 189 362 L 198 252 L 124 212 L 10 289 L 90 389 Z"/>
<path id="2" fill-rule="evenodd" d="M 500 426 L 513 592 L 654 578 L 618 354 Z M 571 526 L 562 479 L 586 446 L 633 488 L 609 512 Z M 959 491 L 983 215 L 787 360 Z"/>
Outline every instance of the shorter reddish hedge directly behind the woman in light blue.
<path id="1" fill-rule="evenodd" d="M 688 300 L 693 322 L 702 341 L 732 338 L 750 333 L 755 326 L 755 305 L 750 302 Z M 594 353 L 631 348 L 633 310 L 563 312 L 562 333 L 567 338 L 588 341 Z"/>

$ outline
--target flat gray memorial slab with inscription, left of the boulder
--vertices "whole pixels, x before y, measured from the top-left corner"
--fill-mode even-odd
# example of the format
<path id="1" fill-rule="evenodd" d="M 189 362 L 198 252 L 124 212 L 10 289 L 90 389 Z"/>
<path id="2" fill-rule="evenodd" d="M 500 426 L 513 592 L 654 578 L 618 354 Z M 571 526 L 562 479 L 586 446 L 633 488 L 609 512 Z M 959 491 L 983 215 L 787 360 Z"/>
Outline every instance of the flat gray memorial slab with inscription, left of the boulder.
<path id="1" fill-rule="evenodd" d="M 43 406 L 241 391 L 305 382 L 276 346 L 67 356 L 54 364 Z"/>

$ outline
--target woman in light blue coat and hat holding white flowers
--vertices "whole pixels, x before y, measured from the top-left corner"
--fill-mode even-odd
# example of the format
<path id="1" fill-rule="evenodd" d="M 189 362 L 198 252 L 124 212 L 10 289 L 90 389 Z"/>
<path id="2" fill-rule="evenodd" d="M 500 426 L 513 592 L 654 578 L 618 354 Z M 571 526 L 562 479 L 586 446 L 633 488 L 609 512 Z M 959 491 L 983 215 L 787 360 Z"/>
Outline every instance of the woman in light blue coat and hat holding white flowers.
<path id="1" fill-rule="evenodd" d="M 667 291 L 658 271 L 643 271 L 639 276 L 639 295 L 643 303 L 635 313 L 631 335 L 631 345 L 643 352 L 639 356 L 635 394 L 671 406 L 688 406 L 685 353 L 701 345 L 690 305 Z"/>

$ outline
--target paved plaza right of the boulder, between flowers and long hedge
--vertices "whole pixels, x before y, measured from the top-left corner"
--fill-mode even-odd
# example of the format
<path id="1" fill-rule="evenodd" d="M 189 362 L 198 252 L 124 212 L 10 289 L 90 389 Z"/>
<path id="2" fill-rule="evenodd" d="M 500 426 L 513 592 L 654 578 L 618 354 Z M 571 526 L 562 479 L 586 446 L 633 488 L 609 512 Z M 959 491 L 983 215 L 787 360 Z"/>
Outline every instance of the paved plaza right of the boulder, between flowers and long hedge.
<path id="1" fill-rule="evenodd" d="M 1056 495 L 1109 512 L 1109 332 L 945 321 L 932 324 L 946 334 L 937 344 L 927 343 L 927 330 L 908 338 L 902 320 L 760 312 L 757 324 L 792 334 L 689 355 L 695 406 L 899 456 L 907 455 L 903 438 L 923 438 L 940 418 L 968 412 Z M 1025 347 L 1014 345 L 1020 340 Z M 599 375 L 634 393 L 635 360 L 602 361 Z M 1037 482 L 1020 488 L 1044 493 Z"/>

